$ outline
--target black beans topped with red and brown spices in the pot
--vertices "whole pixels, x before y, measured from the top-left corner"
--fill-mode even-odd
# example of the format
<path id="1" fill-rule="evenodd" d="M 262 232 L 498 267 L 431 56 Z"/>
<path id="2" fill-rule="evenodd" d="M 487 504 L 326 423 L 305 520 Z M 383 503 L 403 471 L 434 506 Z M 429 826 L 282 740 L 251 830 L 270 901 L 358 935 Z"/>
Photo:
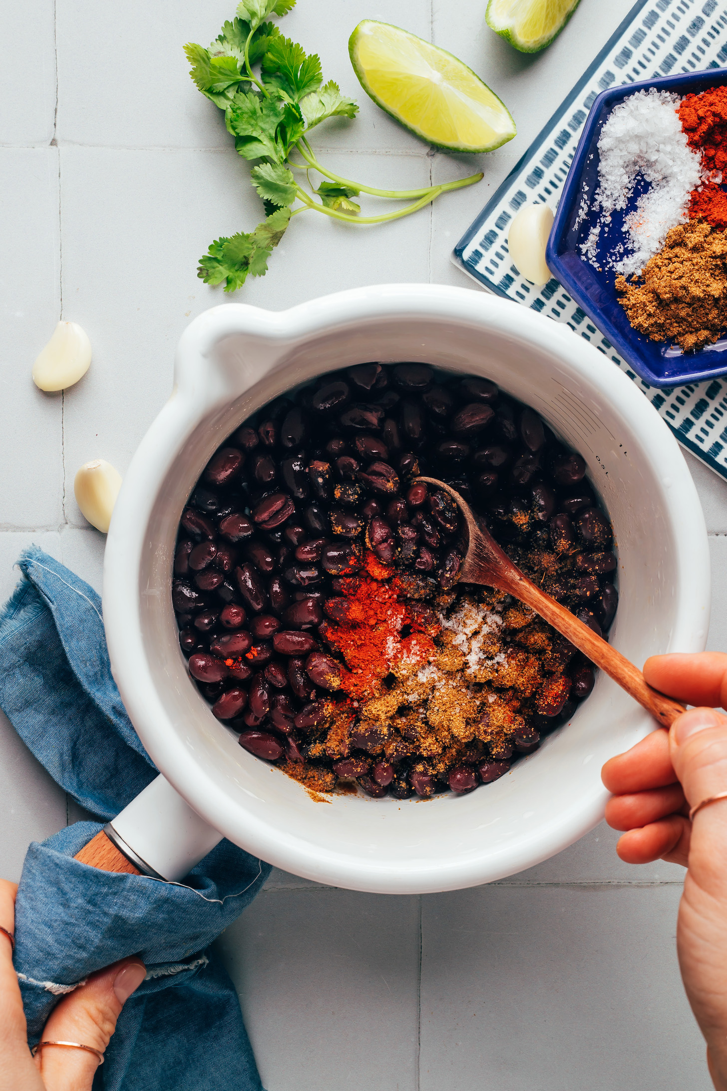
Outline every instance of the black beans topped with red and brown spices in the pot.
<path id="1" fill-rule="evenodd" d="M 459 511 L 420 473 L 595 632 L 614 620 L 611 527 L 583 459 L 494 383 L 366 363 L 279 398 L 197 482 L 172 602 L 214 715 L 313 793 L 470 791 L 593 687 L 531 610 L 458 586 Z"/>

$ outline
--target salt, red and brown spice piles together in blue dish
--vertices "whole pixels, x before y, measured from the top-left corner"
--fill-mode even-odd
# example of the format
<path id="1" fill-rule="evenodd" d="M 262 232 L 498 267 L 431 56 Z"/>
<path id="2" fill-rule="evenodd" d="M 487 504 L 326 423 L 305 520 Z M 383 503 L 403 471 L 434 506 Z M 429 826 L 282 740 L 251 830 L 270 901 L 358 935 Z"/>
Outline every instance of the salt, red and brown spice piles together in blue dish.
<path id="1" fill-rule="evenodd" d="M 713 344 L 727 328 L 727 86 L 629 95 L 606 120 L 598 153 L 601 215 L 584 259 L 619 274 L 616 290 L 640 333 L 684 351 Z M 641 183 L 647 189 L 628 211 Z M 587 207 L 584 197 L 580 218 Z M 627 214 L 609 238 L 617 209 Z"/>

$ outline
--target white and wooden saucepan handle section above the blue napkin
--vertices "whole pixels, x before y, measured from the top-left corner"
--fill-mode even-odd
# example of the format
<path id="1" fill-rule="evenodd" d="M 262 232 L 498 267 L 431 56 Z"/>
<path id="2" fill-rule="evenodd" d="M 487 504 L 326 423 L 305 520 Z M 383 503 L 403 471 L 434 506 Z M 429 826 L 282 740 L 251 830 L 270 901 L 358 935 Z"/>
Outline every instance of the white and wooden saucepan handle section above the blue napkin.
<path id="1" fill-rule="evenodd" d="M 159 776 L 76 853 L 105 872 L 178 882 L 222 840 L 222 835 Z"/>

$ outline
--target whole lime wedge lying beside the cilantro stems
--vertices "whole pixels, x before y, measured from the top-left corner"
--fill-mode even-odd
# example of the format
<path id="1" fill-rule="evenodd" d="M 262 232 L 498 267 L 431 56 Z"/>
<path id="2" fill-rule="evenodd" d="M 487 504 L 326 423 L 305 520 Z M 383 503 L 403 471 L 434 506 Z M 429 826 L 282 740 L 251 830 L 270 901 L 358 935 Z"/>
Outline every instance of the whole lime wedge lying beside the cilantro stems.
<path id="1" fill-rule="evenodd" d="M 429 144 L 492 152 L 516 134 L 509 111 L 467 64 L 408 31 L 364 19 L 349 53 L 366 94 Z"/>

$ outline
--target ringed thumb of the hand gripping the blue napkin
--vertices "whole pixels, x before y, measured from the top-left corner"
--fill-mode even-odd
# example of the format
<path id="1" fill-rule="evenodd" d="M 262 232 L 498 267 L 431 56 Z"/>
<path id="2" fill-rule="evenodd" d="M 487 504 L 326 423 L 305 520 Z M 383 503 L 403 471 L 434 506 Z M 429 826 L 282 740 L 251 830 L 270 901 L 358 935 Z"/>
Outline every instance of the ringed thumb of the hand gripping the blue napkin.
<path id="1" fill-rule="evenodd" d="M 41 1042 L 75 1042 L 104 1053 L 126 999 L 146 976 L 143 962 L 124 959 L 88 978 L 53 1008 Z M 36 1065 L 48 1091 L 90 1091 L 99 1060 L 86 1050 L 46 1046 Z"/>

